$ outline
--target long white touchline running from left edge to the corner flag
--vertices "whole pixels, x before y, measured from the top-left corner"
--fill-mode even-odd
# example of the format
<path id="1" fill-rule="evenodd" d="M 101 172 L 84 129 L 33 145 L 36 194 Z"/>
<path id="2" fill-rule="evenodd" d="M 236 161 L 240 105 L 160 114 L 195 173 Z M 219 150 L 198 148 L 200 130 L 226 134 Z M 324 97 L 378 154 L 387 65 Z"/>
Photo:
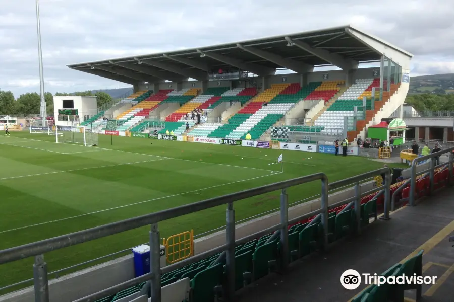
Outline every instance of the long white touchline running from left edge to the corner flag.
<path id="1" fill-rule="evenodd" d="M 269 170 L 268 170 L 268 171 L 269 171 Z M 282 173 L 282 172 L 279 172 L 279 173 Z M 279 173 L 277 173 L 277 174 L 279 174 Z M 144 200 L 144 201 L 139 201 L 139 202 L 135 202 L 135 203 L 131 203 L 131 204 L 125 204 L 125 205 L 121 205 L 121 206 L 117 206 L 117 207 L 112 207 L 112 208 L 109 208 L 109 209 L 104 209 L 104 210 L 94 211 L 94 212 L 90 212 L 90 213 L 85 213 L 85 214 L 81 214 L 81 215 L 76 215 L 76 216 L 71 216 L 71 217 L 66 217 L 66 218 L 61 218 L 61 219 L 46 221 L 46 222 L 40 222 L 40 223 L 35 223 L 35 224 L 31 224 L 31 225 L 26 225 L 26 226 L 20 226 L 19 228 L 14 228 L 14 229 L 10 229 L 10 230 L 0 231 L 0 234 L 4 234 L 4 233 L 8 233 L 8 232 L 13 232 L 13 231 L 18 231 L 18 230 L 24 230 L 24 229 L 28 229 L 28 228 L 34 228 L 35 226 L 40 226 L 40 225 L 44 225 L 44 224 L 49 224 L 49 223 L 55 223 L 55 222 L 65 221 L 65 220 L 74 219 L 74 218 L 80 218 L 80 217 L 84 217 L 84 216 L 88 216 L 88 215 L 93 215 L 93 214 L 98 214 L 98 213 L 102 213 L 102 212 L 106 212 L 106 211 L 121 209 L 121 208 L 129 207 L 129 206 L 133 206 L 133 205 L 138 205 L 138 204 L 150 202 L 150 201 L 156 201 L 156 200 L 161 200 L 161 199 L 170 198 L 170 197 L 175 197 L 175 196 L 181 196 L 181 195 L 185 195 L 185 194 L 189 194 L 189 193 L 196 193 L 196 192 L 203 191 L 203 190 L 209 190 L 209 189 L 212 189 L 212 188 L 217 188 L 217 187 L 232 185 L 232 184 L 239 183 L 239 182 L 244 182 L 244 181 L 248 181 L 248 180 L 259 179 L 259 178 L 268 177 L 268 176 L 273 176 L 273 175 L 276 175 L 276 174 L 268 174 L 268 175 L 262 175 L 262 176 L 253 177 L 253 178 L 248 178 L 248 179 L 243 179 L 243 180 L 237 180 L 237 181 L 233 181 L 233 182 L 230 182 L 230 183 L 215 185 L 215 186 L 211 186 L 211 187 L 207 187 L 207 188 L 197 189 L 197 190 L 193 190 L 193 191 L 188 191 L 188 192 L 183 192 L 183 193 L 178 193 L 178 194 L 173 194 L 173 195 L 168 195 L 168 196 L 162 196 L 162 197 L 153 198 L 153 199 Z"/>

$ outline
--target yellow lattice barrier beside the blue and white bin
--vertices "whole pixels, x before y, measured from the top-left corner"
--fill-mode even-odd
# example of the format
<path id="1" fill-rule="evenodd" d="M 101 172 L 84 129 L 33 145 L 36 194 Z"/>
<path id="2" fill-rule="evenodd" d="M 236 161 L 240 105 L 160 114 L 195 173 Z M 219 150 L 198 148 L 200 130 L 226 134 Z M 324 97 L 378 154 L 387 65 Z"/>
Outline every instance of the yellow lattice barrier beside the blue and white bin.
<path id="1" fill-rule="evenodd" d="M 163 240 L 167 263 L 175 263 L 194 256 L 194 230 L 183 232 Z"/>

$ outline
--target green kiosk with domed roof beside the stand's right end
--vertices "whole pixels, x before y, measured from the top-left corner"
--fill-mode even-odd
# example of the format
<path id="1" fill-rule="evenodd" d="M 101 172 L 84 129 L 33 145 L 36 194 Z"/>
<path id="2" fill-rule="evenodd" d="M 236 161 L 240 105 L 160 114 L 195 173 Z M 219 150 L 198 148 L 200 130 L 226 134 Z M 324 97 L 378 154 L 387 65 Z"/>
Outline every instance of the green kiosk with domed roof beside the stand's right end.
<path id="1" fill-rule="evenodd" d="M 367 129 L 367 137 L 371 140 L 386 140 L 389 145 L 398 146 L 405 142 L 405 131 L 408 130 L 403 119 L 396 118 L 390 123 L 381 122 Z"/>

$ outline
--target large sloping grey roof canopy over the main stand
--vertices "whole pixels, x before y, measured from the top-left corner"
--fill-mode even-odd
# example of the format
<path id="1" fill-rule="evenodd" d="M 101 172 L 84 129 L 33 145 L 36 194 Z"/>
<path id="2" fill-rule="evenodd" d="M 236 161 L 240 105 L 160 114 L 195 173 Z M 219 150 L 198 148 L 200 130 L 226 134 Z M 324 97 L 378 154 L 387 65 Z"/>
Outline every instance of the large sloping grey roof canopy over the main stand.
<path id="1" fill-rule="evenodd" d="M 188 78 L 204 81 L 208 74 L 219 69 L 224 72 L 240 69 L 259 76 L 274 74 L 276 69 L 305 73 L 319 66 L 349 70 L 357 68 L 359 63 L 377 62 L 382 55 L 393 61 L 394 58 L 410 61 L 413 57 L 399 47 L 347 25 L 68 67 L 135 85 L 165 80 L 181 82 Z"/>

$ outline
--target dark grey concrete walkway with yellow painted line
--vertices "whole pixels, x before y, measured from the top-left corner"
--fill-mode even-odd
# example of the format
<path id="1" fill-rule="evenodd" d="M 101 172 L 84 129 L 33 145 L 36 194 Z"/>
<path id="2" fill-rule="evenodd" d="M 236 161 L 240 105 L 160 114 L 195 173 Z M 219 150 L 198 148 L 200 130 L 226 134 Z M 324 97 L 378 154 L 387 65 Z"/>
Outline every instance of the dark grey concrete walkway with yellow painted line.
<path id="1" fill-rule="evenodd" d="M 435 285 L 423 286 L 423 301 L 450 302 L 454 288 L 454 188 L 444 189 L 415 207 L 391 213 L 389 221 L 377 220 L 361 236 L 341 241 L 326 253 L 293 263 L 285 275 L 271 274 L 238 292 L 238 302 L 329 301 L 348 302 L 366 287 L 342 287 L 347 269 L 381 273 L 424 249 L 424 275 L 437 276 Z M 414 302 L 415 294 L 406 298 Z"/>

